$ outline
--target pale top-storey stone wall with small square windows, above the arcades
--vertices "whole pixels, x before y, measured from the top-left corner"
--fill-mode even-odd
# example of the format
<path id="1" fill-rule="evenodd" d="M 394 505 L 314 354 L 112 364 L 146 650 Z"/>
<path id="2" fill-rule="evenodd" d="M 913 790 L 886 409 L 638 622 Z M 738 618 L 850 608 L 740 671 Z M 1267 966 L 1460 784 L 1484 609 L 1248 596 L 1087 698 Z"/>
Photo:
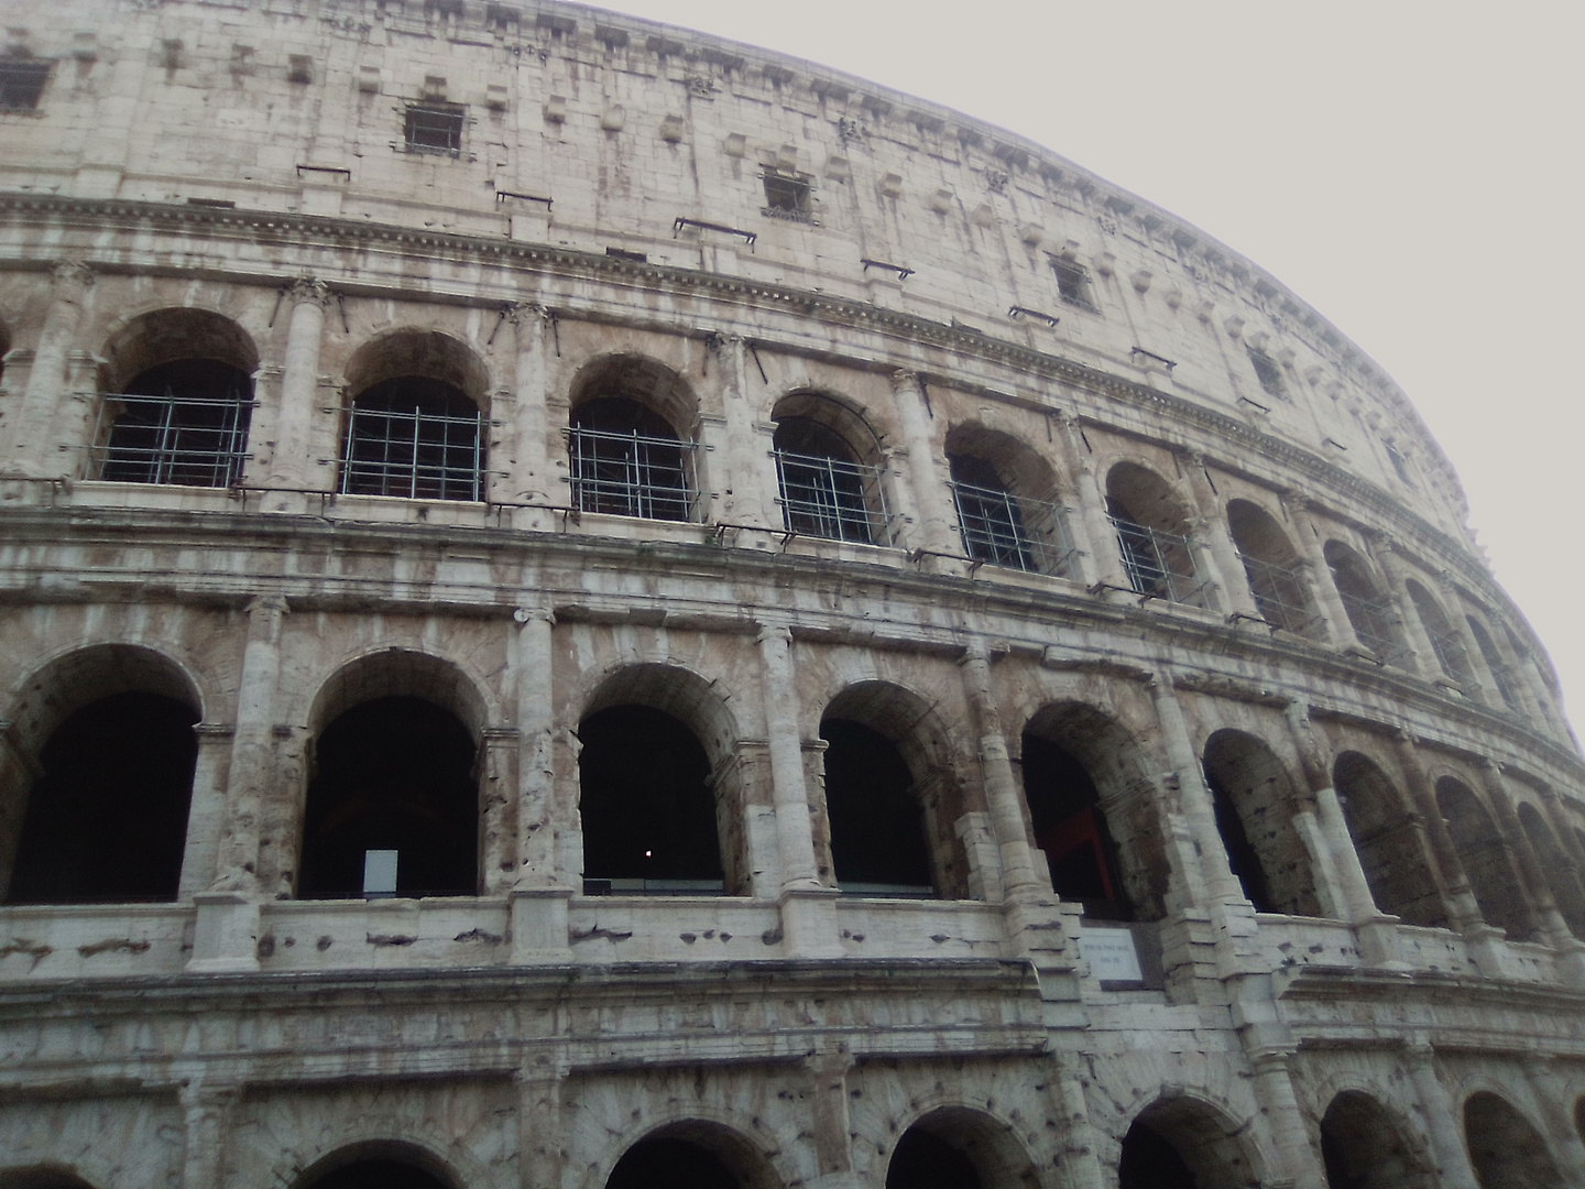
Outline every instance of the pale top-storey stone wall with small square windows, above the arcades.
<path id="1" fill-rule="evenodd" d="M 57 65 L 38 117 L 0 117 L 8 189 L 84 193 L 114 166 L 103 197 L 301 209 L 307 179 L 342 185 L 352 217 L 493 235 L 525 201 L 510 195 L 550 198 L 553 241 L 1030 336 L 1314 449 L 1465 531 L 1419 415 L 1325 319 L 1197 228 L 946 108 L 572 5 L 67 0 L 27 17 L 5 49 Z M 455 160 L 404 151 L 406 109 L 425 100 L 464 109 Z M 766 217 L 767 173 L 808 187 L 807 222 Z M 740 265 L 701 255 L 678 217 L 759 239 L 732 239 Z M 886 274 L 864 260 L 915 274 L 877 298 Z M 1084 270 L 1078 301 L 1059 262 Z"/>

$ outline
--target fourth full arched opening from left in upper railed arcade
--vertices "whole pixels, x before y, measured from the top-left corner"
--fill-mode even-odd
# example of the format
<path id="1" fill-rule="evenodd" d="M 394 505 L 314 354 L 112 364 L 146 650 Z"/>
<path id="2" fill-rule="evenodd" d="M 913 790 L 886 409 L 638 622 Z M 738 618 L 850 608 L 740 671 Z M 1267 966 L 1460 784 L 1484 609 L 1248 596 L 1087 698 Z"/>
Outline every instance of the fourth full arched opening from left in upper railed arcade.
<path id="1" fill-rule="evenodd" d="M 845 404 L 810 392 L 777 403 L 770 420 L 781 520 L 789 533 L 853 541 L 891 542 L 875 438 Z M 869 449 L 856 449 L 854 442 Z"/>

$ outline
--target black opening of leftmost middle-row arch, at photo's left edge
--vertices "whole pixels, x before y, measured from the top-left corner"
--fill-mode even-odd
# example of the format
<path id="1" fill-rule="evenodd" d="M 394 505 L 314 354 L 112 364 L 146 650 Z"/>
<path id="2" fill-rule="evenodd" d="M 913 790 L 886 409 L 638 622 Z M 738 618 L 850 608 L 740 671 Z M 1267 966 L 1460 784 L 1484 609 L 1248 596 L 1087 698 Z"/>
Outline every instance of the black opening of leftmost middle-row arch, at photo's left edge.
<path id="1" fill-rule="evenodd" d="M 141 691 L 68 715 L 38 758 L 6 902 L 174 900 L 197 721 L 185 702 Z"/>

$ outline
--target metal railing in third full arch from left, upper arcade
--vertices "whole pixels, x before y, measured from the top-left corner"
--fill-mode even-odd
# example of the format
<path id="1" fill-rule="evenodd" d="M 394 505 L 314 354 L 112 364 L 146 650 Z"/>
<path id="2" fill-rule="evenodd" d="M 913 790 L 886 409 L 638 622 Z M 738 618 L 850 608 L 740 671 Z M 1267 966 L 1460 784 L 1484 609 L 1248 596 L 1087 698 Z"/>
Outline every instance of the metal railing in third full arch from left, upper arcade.
<path id="1" fill-rule="evenodd" d="M 693 520 L 694 444 L 607 430 L 567 430 L 572 507 L 644 520 Z"/>

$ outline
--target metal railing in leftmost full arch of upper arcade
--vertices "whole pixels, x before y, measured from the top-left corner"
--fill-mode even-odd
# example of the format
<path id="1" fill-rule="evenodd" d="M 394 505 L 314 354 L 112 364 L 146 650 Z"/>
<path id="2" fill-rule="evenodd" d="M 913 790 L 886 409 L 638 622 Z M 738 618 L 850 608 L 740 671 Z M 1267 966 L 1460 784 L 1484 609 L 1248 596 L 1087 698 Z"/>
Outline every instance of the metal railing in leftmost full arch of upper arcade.
<path id="1" fill-rule="evenodd" d="M 117 484 L 231 487 L 243 477 L 252 412 L 254 401 L 235 393 L 108 393 L 100 403 L 89 472 Z"/>

